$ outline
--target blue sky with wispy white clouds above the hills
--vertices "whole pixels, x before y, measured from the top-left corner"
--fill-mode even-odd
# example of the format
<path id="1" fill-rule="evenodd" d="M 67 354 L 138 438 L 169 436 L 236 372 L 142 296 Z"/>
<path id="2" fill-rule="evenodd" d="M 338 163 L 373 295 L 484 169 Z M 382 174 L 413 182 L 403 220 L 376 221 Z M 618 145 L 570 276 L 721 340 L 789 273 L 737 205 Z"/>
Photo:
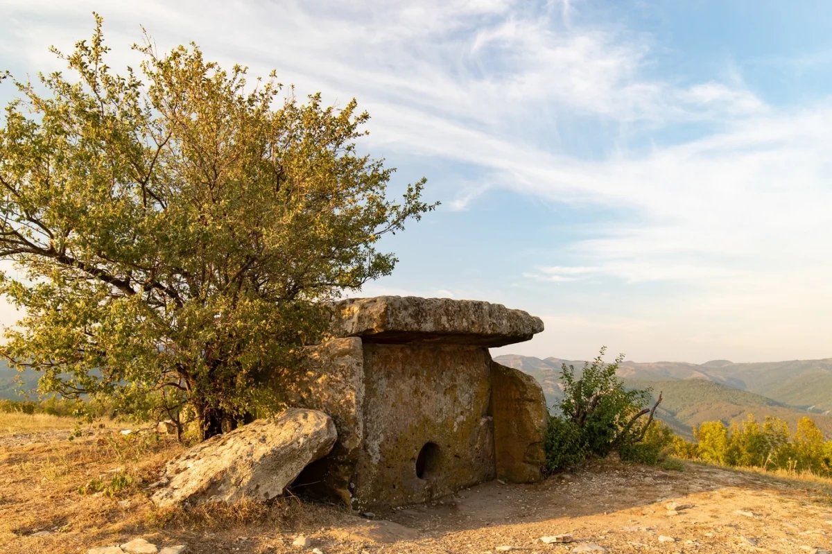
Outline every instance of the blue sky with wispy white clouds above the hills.
<path id="1" fill-rule="evenodd" d="M 493 354 L 832 357 L 832 2 L 0 0 L 0 69 L 61 69 L 92 11 L 116 69 L 143 26 L 358 99 L 391 193 L 442 202 L 360 295 L 543 319 Z"/>

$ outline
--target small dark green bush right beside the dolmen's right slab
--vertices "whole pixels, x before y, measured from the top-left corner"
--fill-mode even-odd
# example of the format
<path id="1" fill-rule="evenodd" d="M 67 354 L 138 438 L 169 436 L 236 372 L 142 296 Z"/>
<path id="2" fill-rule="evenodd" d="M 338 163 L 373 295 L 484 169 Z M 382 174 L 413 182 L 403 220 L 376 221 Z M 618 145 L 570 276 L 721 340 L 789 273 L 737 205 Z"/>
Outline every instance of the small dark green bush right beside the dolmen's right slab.
<path id="1" fill-rule="evenodd" d="M 580 377 L 574 366 L 562 364 L 561 382 L 563 398 L 558 415 L 549 420 L 546 437 L 547 467 L 554 471 L 567 467 L 589 454 L 607 456 L 619 451 L 625 457 L 631 455 L 647 462 L 648 450 L 633 448 L 642 443 L 653 424 L 653 416 L 661 394 L 652 408 L 646 408 L 651 399 L 650 389 L 626 389 L 616 373 L 624 360 L 620 355 L 614 363 L 605 364 L 602 348 L 592 363 L 584 364 Z M 648 416 L 643 418 L 643 416 Z M 663 433 L 653 433 L 651 441 L 662 443 L 658 451 L 669 444 Z"/>

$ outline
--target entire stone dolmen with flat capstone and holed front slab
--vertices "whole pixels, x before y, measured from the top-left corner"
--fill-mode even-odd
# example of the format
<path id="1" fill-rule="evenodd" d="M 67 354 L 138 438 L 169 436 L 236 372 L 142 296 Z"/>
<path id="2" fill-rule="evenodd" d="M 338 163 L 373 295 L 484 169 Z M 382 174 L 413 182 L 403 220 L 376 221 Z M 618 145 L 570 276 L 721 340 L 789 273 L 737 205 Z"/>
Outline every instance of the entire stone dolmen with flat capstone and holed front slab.
<path id="1" fill-rule="evenodd" d="M 501 304 L 381 296 L 331 305 L 332 338 L 305 371 L 276 373 L 290 403 L 328 413 L 338 442 L 295 487 L 354 508 L 426 502 L 478 482 L 542 479 L 547 407 L 488 348 L 541 319 Z"/>

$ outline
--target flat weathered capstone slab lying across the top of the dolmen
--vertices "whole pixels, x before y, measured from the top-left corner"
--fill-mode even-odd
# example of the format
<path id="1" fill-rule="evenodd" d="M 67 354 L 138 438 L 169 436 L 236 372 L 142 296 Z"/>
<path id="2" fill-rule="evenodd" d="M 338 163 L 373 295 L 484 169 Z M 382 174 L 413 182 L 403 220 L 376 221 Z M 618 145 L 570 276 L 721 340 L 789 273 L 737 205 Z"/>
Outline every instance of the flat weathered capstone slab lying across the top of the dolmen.
<path id="1" fill-rule="evenodd" d="M 335 336 L 364 343 L 430 342 L 503 346 L 543 330 L 540 318 L 502 304 L 475 300 L 379 296 L 332 304 Z"/>

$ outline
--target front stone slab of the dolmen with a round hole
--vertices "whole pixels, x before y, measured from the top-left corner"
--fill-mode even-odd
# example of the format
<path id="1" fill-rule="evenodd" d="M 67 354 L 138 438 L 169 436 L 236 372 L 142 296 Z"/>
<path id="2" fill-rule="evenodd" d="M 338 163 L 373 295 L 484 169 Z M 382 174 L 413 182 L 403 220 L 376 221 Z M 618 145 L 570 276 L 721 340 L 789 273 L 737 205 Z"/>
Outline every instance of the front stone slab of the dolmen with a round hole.
<path id="1" fill-rule="evenodd" d="M 364 344 L 354 507 L 425 502 L 495 477 L 490 363 L 477 347 Z"/>

